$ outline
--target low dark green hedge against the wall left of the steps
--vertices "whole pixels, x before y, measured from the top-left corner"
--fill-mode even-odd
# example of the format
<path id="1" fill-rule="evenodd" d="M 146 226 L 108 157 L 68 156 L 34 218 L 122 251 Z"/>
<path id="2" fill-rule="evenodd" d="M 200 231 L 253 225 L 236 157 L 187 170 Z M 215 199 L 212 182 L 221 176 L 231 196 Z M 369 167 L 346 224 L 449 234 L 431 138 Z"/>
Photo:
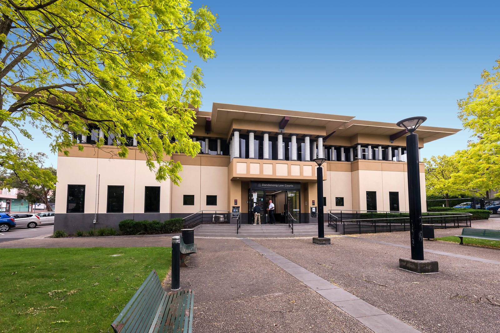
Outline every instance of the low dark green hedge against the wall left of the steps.
<path id="1" fill-rule="evenodd" d="M 171 234 L 180 232 L 184 228 L 184 221 L 180 217 L 171 218 L 163 222 L 158 220 L 135 221 L 127 219 L 121 221 L 118 227 L 124 235 Z"/>

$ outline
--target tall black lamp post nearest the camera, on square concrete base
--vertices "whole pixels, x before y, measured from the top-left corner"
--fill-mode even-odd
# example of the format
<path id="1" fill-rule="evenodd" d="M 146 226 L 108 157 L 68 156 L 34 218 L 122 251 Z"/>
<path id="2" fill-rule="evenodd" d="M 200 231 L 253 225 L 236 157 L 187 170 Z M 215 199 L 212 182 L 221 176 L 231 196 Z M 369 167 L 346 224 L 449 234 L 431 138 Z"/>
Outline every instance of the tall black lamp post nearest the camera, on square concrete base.
<path id="1" fill-rule="evenodd" d="M 418 162 L 418 135 L 415 130 L 426 117 L 411 117 L 397 122 L 409 133 L 406 136 L 406 165 L 408 173 L 409 237 L 411 259 L 399 259 L 399 268 L 416 273 L 437 272 L 437 262 L 423 259 L 422 203 L 420 199 L 420 166 Z"/>

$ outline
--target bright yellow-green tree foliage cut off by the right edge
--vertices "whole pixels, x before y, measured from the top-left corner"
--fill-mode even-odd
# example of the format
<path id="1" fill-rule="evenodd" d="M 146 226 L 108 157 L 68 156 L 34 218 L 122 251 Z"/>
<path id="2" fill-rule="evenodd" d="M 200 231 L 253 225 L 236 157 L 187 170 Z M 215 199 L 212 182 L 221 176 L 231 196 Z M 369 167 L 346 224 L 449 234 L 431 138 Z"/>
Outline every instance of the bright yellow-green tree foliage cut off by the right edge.
<path id="1" fill-rule="evenodd" d="M 491 72 L 482 72 L 483 82 L 458 101 L 458 117 L 476 140 L 456 153 L 460 172 L 453 178 L 482 195 L 500 188 L 500 59 L 496 62 Z"/>

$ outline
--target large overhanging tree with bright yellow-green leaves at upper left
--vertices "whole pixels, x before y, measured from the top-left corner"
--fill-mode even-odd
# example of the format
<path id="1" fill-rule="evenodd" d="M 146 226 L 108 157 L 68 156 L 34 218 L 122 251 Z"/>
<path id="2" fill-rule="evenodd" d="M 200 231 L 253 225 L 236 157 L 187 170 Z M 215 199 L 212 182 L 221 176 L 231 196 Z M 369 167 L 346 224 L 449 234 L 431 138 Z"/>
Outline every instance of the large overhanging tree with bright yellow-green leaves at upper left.
<path id="1" fill-rule="evenodd" d="M 64 154 L 101 130 L 120 158 L 136 136 L 156 178 L 178 183 L 168 156 L 199 151 L 188 106 L 203 87 L 199 67 L 185 71 L 186 50 L 215 56 L 216 15 L 187 0 L 0 0 L 0 13 L 0 167 L 33 173 L 11 153 L 12 128 L 29 139 L 26 128 L 39 128 Z"/>

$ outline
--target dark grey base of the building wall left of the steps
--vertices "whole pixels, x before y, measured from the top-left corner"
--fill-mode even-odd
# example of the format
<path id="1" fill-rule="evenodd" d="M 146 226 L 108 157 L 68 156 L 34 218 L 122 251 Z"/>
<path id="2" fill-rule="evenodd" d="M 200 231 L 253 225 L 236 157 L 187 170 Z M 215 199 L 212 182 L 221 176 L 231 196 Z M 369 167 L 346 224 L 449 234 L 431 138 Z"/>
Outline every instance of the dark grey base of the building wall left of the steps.
<path id="1" fill-rule="evenodd" d="M 158 220 L 164 221 L 175 217 L 186 217 L 189 213 L 116 213 L 116 214 L 97 214 L 97 223 L 93 223 L 94 214 L 55 214 L 54 230 L 64 230 L 67 233 L 74 233 L 76 230 L 87 231 L 102 227 L 112 227 L 118 229 L 120 221 L 126 219 L 140 220 Z"/>

